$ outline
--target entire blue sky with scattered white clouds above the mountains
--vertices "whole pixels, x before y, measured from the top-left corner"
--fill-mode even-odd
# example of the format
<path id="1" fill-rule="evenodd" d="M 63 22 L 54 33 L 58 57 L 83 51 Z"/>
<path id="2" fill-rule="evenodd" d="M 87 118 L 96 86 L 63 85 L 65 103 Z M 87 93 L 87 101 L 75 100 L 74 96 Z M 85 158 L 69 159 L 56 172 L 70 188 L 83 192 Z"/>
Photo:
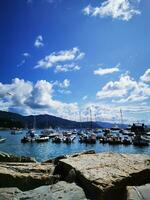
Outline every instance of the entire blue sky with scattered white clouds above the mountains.
<path id="1" fill-rule="evenodd" d="M 0 0 L 0 110 L 150 124 L 149 10 L 149 0 Z"/>

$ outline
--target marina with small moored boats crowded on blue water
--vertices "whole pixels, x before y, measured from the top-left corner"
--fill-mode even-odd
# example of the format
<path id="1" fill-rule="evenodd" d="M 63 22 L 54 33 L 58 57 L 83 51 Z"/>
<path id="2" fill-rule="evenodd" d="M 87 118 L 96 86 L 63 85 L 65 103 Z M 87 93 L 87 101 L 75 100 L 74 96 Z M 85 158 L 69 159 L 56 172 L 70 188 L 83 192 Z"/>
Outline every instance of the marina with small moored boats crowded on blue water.
<path id="1" fill-rule="evenodd" d="M 22 134 L 12 135 L 9 130 L 0 131 L 5 141 L 0 151 L 16 155 L 35 157 L 44 161 L 60 155 L 79 153 L 93 149 L 96 152 L 117 152 L 150 154 L 149 132 L 137 139 L 130 131 L 111 129 L 82 130 L 22 130 Z M 95 133 L 96 132 L 96 133 Z M 128 134 L 127 134 L 128 133 Z M 143 143 L 143 138 L 146 143 Z"/>

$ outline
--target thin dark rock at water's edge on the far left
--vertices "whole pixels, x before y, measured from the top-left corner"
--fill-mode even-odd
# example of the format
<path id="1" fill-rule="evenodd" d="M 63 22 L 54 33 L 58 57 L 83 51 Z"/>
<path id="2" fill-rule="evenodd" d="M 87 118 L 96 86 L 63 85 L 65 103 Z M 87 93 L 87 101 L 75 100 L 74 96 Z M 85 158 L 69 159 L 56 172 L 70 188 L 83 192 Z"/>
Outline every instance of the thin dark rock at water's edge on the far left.
<path id="1" fill-rule="evenodd" d="M 31 157 L 15 156 L 15 155 L 0 151 L 0 162 L 33 162 L 35 163 L 36 160 Z"/>

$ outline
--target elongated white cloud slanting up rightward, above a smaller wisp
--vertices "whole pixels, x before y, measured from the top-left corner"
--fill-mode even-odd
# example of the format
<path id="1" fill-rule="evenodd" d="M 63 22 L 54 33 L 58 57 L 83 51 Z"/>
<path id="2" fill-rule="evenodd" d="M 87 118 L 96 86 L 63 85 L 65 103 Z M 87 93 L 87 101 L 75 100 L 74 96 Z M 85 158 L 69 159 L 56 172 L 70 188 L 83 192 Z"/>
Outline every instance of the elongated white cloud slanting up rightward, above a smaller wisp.
<path id="1" fill-rule="evenodd" d="M 58 65 L 58 63 L 63 63 L 67 61 L 77 61 L 83 58 L 83 56 L 85 55 L 83 54 L 84 53 L 80 52 L 79 48 L 77 47 L 74 47 L 73 49 L 69 50 L 62 50 L 57 53 L 53 52 L 50 55 L 45 56 L 45 58 L 39 60 L 34 68 L 47 69 L 55 65 Z"/>

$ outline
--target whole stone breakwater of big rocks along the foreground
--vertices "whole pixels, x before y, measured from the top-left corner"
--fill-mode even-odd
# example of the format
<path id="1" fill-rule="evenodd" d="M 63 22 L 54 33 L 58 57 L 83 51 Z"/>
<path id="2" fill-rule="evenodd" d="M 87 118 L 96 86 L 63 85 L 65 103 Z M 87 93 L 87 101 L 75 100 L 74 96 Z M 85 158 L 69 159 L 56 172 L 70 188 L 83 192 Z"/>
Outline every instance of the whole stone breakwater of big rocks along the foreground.
<path id="1" fill-rule="evenodd" d="M 126 200 L 131 186 L 150 183 L 148 155 L 88 151 L 44 163 L 14 158 L 0 153 L 0 199 Z"/>

